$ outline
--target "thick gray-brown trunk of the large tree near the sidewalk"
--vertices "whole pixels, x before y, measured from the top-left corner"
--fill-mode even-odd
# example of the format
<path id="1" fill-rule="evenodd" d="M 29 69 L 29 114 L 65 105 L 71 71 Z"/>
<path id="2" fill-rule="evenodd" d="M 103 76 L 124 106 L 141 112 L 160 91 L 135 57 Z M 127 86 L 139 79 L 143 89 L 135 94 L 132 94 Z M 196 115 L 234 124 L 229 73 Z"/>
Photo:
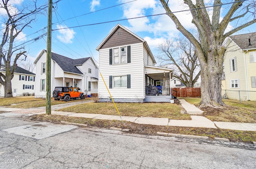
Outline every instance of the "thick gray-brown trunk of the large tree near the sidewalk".
<path id="1" fill-rule="evenodd" d="M 202 41 L 204 43 L 204 41 Z M 201 64 L 201 102 L 200 106 L 223 106 L 221 97 L 221 79 L 223 58 L 226 49 L 221 45 L 218 35 L 210 35 L 207 44 L 202 44 L 204 57 L 198 57 Z M 207 47 L 208 46 L 208 47 Z"/>

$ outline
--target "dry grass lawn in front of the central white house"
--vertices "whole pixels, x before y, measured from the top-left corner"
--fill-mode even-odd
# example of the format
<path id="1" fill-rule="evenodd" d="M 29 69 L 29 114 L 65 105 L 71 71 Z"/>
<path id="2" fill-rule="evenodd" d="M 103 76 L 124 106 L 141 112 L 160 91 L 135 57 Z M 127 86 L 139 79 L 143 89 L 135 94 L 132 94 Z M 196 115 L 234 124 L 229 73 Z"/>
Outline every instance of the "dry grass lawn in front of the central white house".
<path id="1" fill-rule="evenodd" d="M 181 114 L 182 108 L 170 103 L 116 103 L 122 116 L 144 116 L 170 118 L 175 120 L 191 120 L 190 115 Z M 59 109 L 63 112 L 119 115 L 112 102 L 91 102 Z"/>

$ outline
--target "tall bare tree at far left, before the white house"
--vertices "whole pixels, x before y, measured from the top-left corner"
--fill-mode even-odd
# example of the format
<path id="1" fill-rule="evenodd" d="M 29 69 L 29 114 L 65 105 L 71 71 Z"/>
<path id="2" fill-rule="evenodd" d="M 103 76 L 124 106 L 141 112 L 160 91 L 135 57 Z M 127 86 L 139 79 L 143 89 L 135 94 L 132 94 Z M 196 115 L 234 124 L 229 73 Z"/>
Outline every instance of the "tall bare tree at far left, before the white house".
<path id="1" fill-rule="evenodd" d="M 2 41 L 0 44 L 0 66 L 2 61 L 5 65 L 5 74 L 0 73 L 0 83 L 4 86 L 4 97 L 12 97 L 12 83 L 16 62 L 26 51 L 24 46 L 16 45 L 15 39 L 21 34 L 22 30 L 30 27 L 30 24 L 36 20 L 36 15 L 44 12 L 47 4 L 38 6 L 36 0 L 23 4 L 12 4 L 14 1 L 1 0 L 0 11 L 1 24 L 5 27 L 1 29 Z"/>

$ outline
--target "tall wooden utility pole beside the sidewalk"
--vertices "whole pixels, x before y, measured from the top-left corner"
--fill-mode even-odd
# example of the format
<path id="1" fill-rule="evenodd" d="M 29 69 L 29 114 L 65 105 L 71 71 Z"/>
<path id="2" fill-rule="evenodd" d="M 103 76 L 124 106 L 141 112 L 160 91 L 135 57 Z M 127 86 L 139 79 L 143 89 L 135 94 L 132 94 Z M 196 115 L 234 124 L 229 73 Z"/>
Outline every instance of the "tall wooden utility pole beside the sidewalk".
<path id="1" fill-rule="evenodd" d="M 46 56 L 46 115 L 51 114 L 51 57 L 52 57 L 52 0 L 48 5 L 47 29 L 47 56 Z"/>

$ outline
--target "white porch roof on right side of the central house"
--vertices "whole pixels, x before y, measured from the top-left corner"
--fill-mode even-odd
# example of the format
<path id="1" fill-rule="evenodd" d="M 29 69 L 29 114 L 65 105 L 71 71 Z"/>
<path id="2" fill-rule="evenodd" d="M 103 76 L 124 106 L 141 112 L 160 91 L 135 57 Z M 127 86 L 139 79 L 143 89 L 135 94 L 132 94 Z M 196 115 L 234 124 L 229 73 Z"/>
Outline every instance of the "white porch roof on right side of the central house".
<path id="1" fill-rule="evenodd" d="M 146 69 L 146 74 L 149 75 L 153 79 L 164 79 L 164 78 L 169 78 L 170 73 L 170 79 L 172 79 L 172 73 L 173 70 L 165 67 L 156 67 L 156 66 L 145 66 Z"/>

